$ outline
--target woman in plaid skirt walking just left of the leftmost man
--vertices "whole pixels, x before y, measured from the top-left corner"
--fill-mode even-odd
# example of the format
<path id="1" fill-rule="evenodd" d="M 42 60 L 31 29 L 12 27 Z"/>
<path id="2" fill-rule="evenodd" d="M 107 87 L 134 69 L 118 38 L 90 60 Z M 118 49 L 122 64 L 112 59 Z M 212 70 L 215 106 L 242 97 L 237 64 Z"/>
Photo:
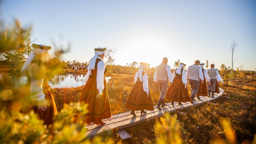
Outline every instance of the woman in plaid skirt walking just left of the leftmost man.
<path id="1" fill-rule="evenodd" d="M 131 114 L 136 116 L 134 111 L 141 111 L 141 113 L 147 113 L 144 109 L 154 111 L 154 103 L 151 98 L 149 90 L 149 81 L 147 79 L 147 73 L 145 69 L 148 63 L 140 63 L 140 69 L 134 77 L 134 86 L 127 98 L 125 107 L 132 109 Z"/>

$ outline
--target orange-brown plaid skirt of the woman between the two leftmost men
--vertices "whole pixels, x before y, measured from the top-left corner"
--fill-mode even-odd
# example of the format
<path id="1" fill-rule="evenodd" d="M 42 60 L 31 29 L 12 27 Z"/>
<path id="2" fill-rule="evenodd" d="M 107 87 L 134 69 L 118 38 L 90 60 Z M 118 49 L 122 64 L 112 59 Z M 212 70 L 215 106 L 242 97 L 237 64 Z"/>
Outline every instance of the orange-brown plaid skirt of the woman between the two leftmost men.
<path id="1" fill-rule="evenodd" d="M 186 103 L 192 101 L 189 96 L 188 90 L 184 88 L 185 84 L 183 84 L 182 79 L 173 79 L 173 83 L 169 86 L 166 91 L 165 98 L 174 101 L 174 102 L 182 102 Z"/>

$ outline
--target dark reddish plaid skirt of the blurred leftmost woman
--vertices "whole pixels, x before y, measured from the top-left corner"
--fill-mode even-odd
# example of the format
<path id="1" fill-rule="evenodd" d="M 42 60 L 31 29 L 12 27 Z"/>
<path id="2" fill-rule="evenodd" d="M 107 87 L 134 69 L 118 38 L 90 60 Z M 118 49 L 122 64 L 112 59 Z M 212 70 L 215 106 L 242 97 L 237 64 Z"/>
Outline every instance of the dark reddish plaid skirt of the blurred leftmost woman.
<path id="1" fill-rule="evenodd" d="M 44 89 L 45 94 L 45 100 L 47 100 L 49 106 L 47 106 L 46 111 L 38 110 L 38 101 L 30 101 L 23 105 L 23 107 L 20 109 L 21 113 L 29 113 L 30 111 L 34 111 L 38 115 L 38 119 L 41 119 L 44 121 L 44 124 L 47 126 L 49 124 L 53 124 L 53 117 L 54 114 L 58 115 L 57 106 L 54 101 L 54 97 L 52 96 L 52 93 L 50 89 Z"/>

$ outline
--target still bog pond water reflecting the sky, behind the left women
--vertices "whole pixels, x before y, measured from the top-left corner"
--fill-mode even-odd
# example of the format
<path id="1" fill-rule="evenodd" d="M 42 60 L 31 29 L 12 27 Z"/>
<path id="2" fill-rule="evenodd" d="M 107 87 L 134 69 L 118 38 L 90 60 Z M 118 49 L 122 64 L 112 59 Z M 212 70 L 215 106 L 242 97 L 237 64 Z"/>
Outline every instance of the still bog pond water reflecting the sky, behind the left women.
<path id="1" fill-rule="evenodd" d="M 51 88 L 71 88 L 82 86 L 84 83 L 85 74 L 66 74 L 64 76 L 52 76 L 50 77 L 49 84 Z M 111 77 L 106 77 L 106 81 L 109 81 Z M 21 76 L 17 79 L 19 85 L 27 83 L 27 76 Z"/>

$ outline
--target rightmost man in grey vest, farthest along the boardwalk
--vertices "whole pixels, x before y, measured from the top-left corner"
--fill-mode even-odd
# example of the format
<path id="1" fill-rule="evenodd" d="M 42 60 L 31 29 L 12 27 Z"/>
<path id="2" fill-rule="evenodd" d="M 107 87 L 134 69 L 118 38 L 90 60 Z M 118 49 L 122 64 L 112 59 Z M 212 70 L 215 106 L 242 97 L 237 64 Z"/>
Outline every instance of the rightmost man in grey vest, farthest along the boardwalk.
<path id="1" fill-rule="evenodd" d="M 207 70 L 207 73 L 210 77 L 210 82 L 207 84 L 208 97 L 214 98 L 215 86 L 219 85 L 219 71 L 214 68 L 214 64 L 211 64 L 211 68 Z M 212 94 L 211 94 L 212 91 Z"/>

